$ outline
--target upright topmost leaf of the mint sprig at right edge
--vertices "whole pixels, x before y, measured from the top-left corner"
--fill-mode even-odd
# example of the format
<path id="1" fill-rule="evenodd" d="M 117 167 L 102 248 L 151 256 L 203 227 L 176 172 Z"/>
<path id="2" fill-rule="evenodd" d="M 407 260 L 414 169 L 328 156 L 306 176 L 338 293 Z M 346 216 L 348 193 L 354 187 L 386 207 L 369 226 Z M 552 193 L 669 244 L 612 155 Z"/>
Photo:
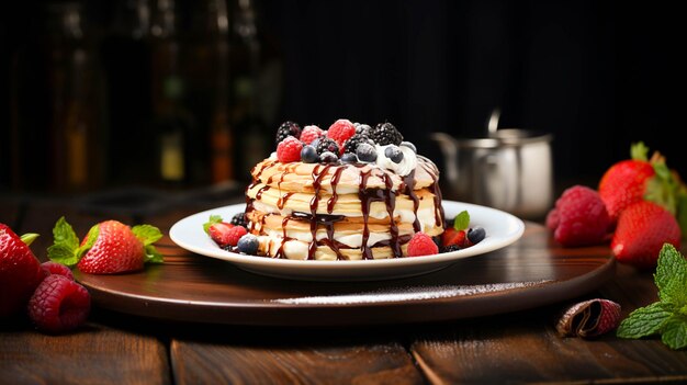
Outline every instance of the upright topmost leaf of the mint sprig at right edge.
<path id="1" fill-rule="evenodd" d="M 671 244 L 664 244 L 661 248 L 654 281 L 662 302 L 678 307 L 687 304 L 687 260 Z"/>

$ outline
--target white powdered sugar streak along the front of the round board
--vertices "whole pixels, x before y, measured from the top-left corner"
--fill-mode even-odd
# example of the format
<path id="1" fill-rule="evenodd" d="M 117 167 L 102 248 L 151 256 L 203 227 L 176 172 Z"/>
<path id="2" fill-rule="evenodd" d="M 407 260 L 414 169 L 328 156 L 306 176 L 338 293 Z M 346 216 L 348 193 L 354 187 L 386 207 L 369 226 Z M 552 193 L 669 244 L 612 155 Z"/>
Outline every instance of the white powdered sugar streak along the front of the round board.
<path id="1" fill-rule="evenodd" d="M 514 288 L 525 288 L 551 280 L 511 282 L 511 283 L 489 283 L 484 285 L 440 285 L 420 287 L 390 287 L 374 292 L 363 292 L 342 295 L 322 295 L 299 298 L 272 299 L 273 303 L 288 305 L 349 305 L 349 304 L 374 304 L 380 302 L 405 302 L 425 301 L 437 298 L 450 298 L 477 294 L 489 294 L 505 292 Z"/>

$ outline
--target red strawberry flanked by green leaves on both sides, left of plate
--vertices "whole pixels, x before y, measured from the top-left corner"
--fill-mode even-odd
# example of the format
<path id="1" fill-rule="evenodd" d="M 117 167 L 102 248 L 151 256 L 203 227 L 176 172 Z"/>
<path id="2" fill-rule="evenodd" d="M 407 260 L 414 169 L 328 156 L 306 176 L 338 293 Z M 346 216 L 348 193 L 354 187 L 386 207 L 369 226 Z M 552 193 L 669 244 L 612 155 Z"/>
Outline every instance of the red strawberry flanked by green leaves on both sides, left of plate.
<path id="1" fill-rule="evenodd" d="M 52 261 L 90 274 L 115 274 L 143 269 L 144 263 L 161 263 L 155 244 L 162 237 L 157 227 L 129 227 L 117 220 L 101 222 L 88 231 L 81 242 L 64 217 L 53 229 L 55 244 L 48 248 Z"/>

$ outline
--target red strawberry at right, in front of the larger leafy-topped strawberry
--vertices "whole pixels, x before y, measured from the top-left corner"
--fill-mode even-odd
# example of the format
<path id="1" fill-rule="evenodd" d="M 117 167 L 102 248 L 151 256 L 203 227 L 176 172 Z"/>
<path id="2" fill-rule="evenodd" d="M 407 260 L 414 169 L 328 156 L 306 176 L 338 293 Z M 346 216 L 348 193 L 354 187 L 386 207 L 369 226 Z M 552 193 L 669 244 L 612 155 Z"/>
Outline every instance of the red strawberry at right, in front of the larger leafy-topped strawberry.
<path id="1" fill-rule="evenodd" d="M 616 260 L 652 269 L 666 242 L 680 248 L 680 228 L 675 216 L 656 203 L 640 201 L 620 213 L 610 246 Z"/>

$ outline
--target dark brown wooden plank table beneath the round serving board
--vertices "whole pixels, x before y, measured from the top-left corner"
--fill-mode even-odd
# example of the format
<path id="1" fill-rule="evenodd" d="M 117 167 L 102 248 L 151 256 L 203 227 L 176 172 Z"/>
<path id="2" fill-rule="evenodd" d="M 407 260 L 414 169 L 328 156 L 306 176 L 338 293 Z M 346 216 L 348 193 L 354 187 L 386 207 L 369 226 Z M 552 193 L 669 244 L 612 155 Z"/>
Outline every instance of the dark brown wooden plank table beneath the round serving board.
<path id="1" fill-rule="evenodd" d="M 32 245 L 42 260 L 61 215 L 77 234 L 105 218 L 148 223 L 167 234 L 187 215 L 240 202 L 221 194 L 176 200 L 145 192 L 0 197 L 1 223 L 18 234 L 42 235 Z M 168 237 L 159 250 L 183 252 Z M 87 325 L 67 335 L 44 335 L 22 320 L 0 324 L 0 384 L 687 383 L 686 353 L 658 339 L 623 340 L 612 332 L 587 340 L 560 337 L 560 312 L 593 297 L 619 303 L 624 317 L 656 301 L 656 287 L 652 272 L 618 264 L 598 290 L 530 310 L 330 328 L 166 321 L 94 306 Z"/>

